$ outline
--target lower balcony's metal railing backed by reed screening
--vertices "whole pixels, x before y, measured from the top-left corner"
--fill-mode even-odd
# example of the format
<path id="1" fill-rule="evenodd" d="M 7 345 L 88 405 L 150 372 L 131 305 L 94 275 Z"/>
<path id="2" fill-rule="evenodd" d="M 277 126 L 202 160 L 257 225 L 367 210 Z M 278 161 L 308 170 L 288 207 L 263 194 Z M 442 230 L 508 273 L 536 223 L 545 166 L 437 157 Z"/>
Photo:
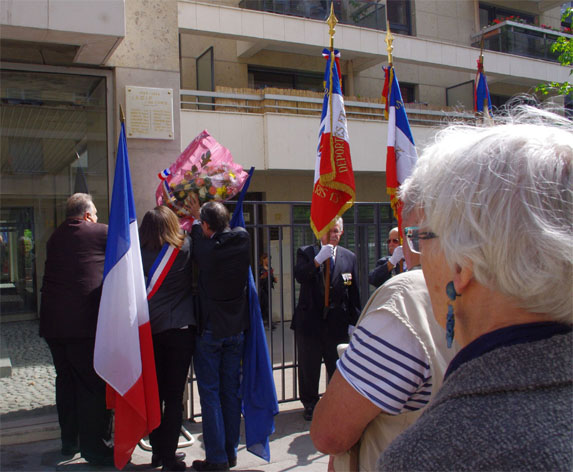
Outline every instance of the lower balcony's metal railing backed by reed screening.
<path id="1" fill-rule="evenodd" d="M 235 113 L 285 113 L 320 116 L 323 95 L 316 92 L 285 89 L 233 89 L 217 87 L 216 92 L 181 90 L 182 110 L 205 110 Z M 367 101 L 347 97 L 344 101 L 349 119 L 383 121 L 384 105 L 379 100 Z M 410 123 L 435 126 L 442 122 L 474 121 L 475 115 L 451 107 L 432 109 L 421 103 L 405 104 Z"/>

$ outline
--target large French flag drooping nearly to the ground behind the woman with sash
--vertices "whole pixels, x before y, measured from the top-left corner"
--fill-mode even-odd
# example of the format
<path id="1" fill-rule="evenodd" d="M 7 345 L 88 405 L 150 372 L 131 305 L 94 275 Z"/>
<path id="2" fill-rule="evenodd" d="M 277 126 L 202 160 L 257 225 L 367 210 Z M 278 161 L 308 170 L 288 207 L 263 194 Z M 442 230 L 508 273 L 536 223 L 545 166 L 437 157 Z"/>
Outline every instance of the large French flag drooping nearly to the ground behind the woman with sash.
<path id="1" fill-rule="evenodd" d="M 122 469 L 161 422 L 155 359 L 131 176 L 121 124 L 113 182 L 94 368 L 115 408 L 114 462 Z"/>

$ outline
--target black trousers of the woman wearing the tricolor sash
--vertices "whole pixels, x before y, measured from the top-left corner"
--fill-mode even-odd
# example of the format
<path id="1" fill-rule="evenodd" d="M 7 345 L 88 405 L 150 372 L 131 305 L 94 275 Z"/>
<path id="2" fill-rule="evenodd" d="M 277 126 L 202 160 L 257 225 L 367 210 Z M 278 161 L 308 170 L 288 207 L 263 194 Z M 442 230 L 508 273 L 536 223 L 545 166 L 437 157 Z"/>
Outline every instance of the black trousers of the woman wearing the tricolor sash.
<path id="1" fill-rule="evenodd" d="M 183 421 L 183 394 L 195 350 L 195 328 L 169 329 L 153 335 L 161 424 L 149 435 L 153 454 L 164 464 L 175 461 Z"/>

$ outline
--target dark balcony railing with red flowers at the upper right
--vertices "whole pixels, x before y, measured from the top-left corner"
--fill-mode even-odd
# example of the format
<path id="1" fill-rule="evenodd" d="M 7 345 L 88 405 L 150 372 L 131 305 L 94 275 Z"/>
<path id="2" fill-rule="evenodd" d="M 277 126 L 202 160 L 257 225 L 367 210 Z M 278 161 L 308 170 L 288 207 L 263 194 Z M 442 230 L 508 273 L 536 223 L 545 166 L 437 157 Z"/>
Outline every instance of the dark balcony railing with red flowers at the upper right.
<path id="1" fill-rule="evenodd" d="M 482 35 L 484 49 L 489 51 L 505 52 L 553 62 L 557 62 L 558 54 L 551 52 L 551 45 L 560 36 L 573 38 L 573 35 L 570 34 L 515 21 L 503 21 L 473 35 L 473 46 L 480 47 Z"/>

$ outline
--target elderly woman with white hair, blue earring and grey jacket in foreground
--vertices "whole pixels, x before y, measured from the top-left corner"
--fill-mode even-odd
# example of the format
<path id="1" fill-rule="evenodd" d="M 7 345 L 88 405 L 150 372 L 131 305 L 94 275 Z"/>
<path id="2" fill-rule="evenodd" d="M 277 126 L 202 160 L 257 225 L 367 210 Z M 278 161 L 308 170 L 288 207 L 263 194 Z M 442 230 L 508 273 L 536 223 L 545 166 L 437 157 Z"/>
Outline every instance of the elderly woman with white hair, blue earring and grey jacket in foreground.
<path id="1" fill-rule="evenodd" d="M 573 469 L 573 131 L 524 108 L 442 131 L 402 196 L 434 315 L 462 349 L 378 470 Z"/>

